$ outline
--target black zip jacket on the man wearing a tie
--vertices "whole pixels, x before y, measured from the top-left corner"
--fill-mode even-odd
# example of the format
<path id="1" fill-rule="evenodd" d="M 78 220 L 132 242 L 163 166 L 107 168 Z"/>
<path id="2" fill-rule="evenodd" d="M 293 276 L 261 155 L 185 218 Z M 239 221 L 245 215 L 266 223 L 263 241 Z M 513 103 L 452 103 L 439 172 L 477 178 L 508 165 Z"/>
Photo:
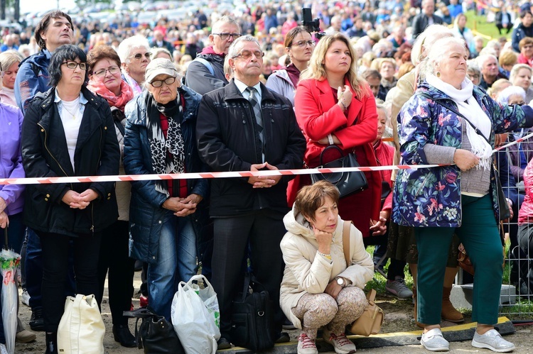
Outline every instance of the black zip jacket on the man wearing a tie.
<path id="1" fill-rule="evenodd" d="M 303 167 L 306 140 L 291 102 L 263 84 L 261 89 L 265 161 L 279 170 Z M 254 120 L 252 105 L 233 80 L 205 94 L 196 123 L 200 157 L 217 172 L 249 171 L 262 163 L 260 149 L 255 148 Z M 236 216 L 266 208 L 286 213 L 286 189 L 293 177 L 284 176 L 274 187 L 259 189 L 248 183 L 248 177 L 212 179 L 210 215 Z"/>

